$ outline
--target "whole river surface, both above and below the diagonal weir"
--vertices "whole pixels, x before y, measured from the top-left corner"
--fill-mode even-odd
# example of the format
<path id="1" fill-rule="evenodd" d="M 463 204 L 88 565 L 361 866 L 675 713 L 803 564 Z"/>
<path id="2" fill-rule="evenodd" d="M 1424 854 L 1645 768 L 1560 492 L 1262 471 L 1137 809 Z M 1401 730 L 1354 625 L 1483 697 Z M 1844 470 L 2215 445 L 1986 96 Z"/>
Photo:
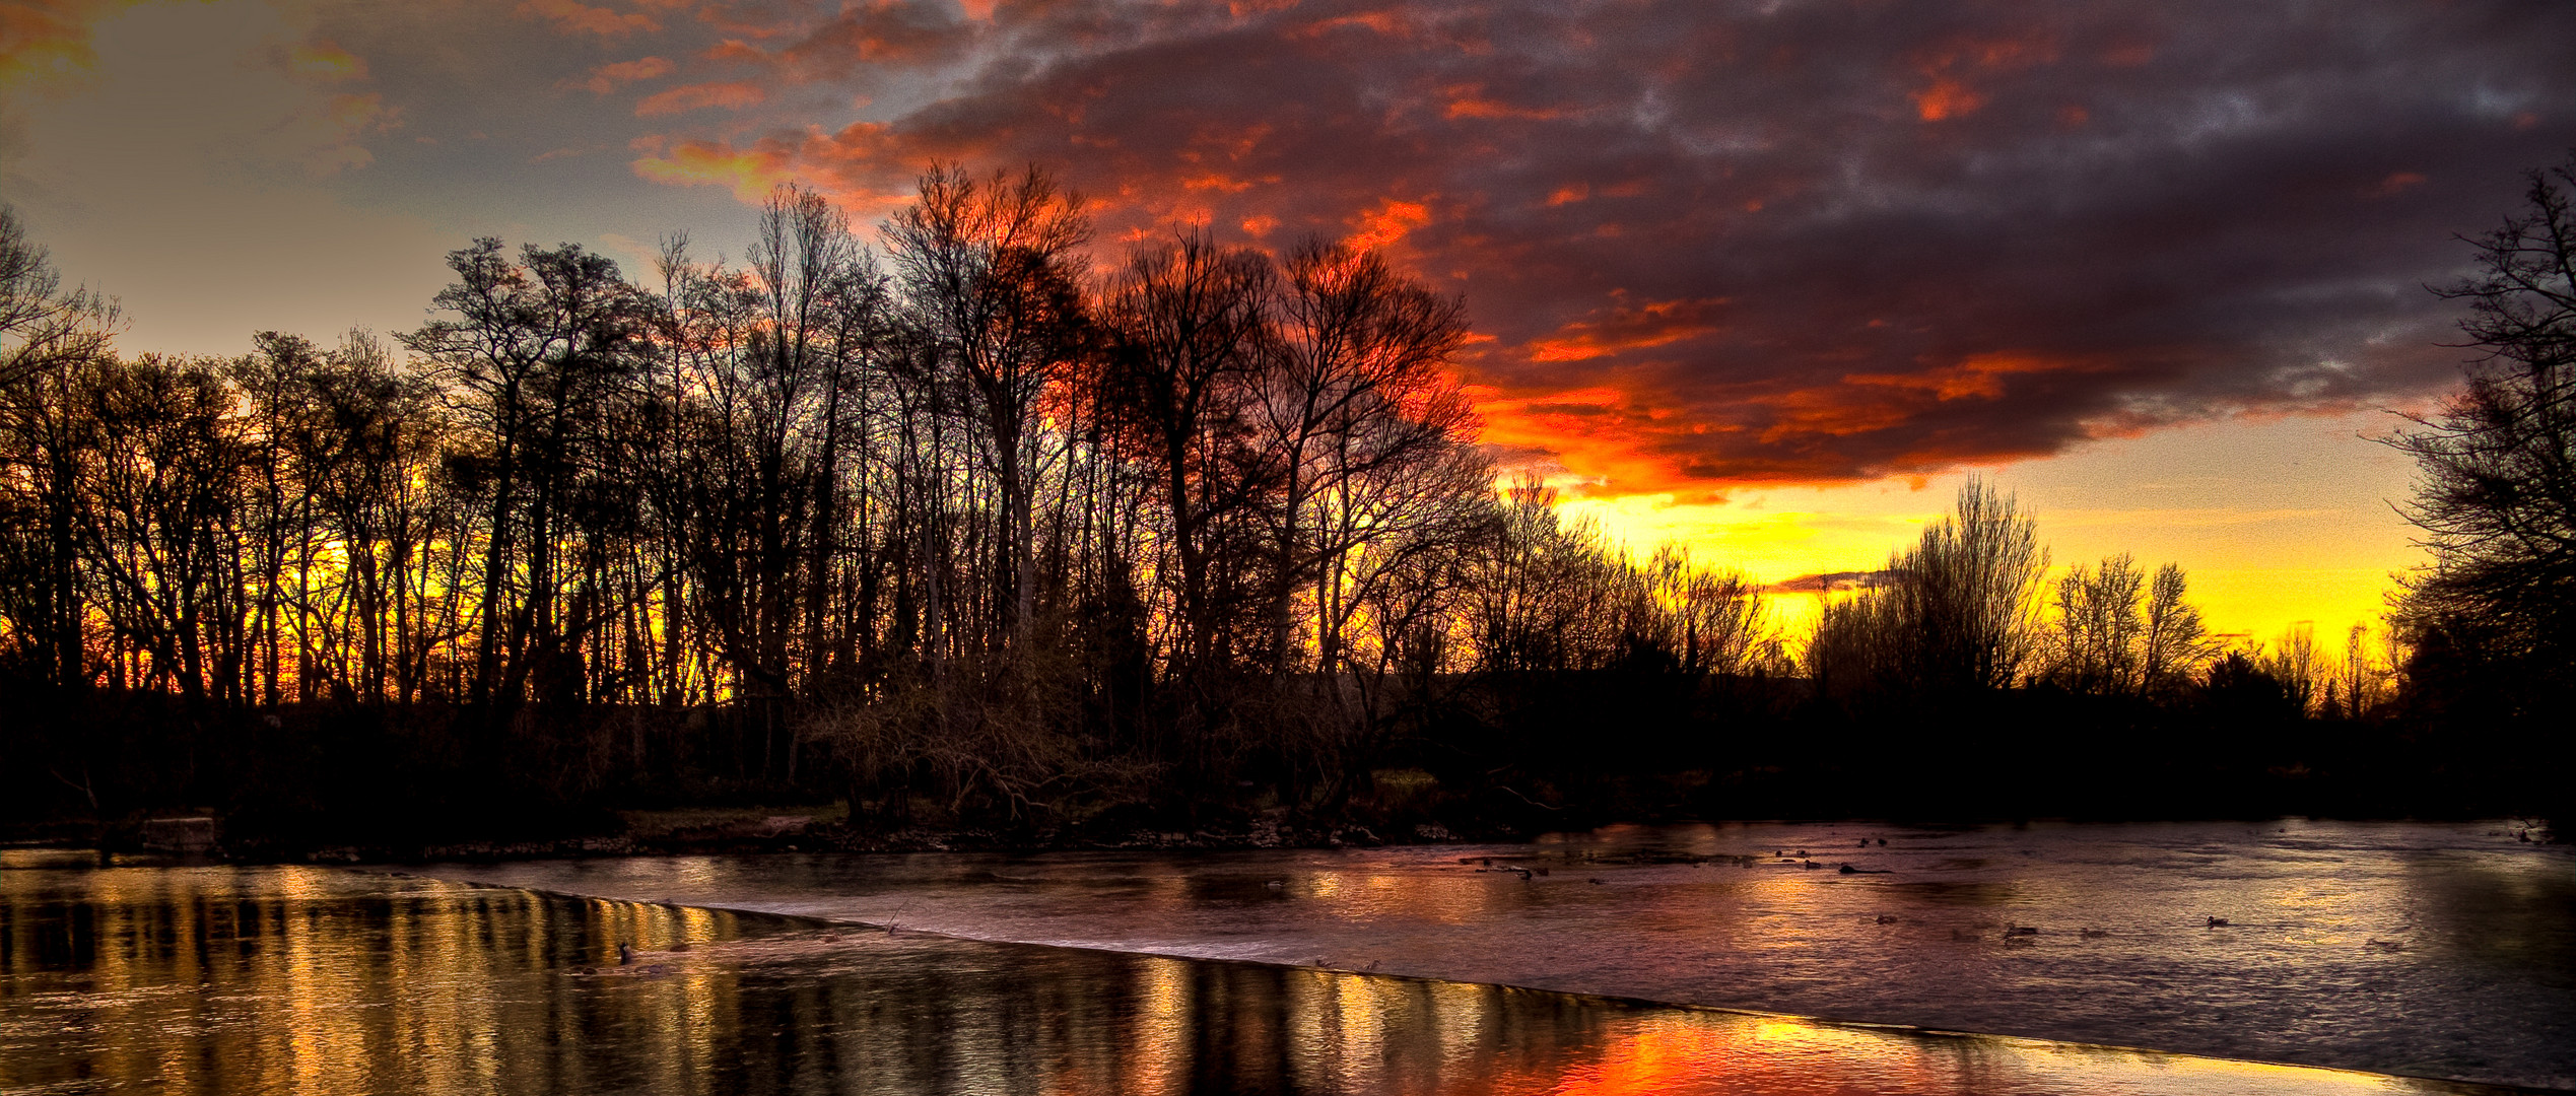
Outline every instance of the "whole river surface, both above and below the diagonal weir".
<path id="1" fill-rule="evenodd" d="M 2568 1088 L 2576 859 L 2509 834 L 1685 826 L 417 875 L 0 852 L 0 1093 L 2452 1091 L 2223 1057 Z"/>

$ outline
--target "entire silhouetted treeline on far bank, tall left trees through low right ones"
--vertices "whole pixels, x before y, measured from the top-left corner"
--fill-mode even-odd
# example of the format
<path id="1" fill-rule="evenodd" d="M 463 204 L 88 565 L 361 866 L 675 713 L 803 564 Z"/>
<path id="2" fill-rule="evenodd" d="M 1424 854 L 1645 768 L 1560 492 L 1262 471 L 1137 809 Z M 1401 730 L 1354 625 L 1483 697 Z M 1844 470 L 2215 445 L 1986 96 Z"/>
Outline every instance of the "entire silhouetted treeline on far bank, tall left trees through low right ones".
<path id="1" fill-rule="evenodd" d="M 1100 262 L 1038 170 L 938 167 L 876 237 L 783 188 L 739 265 L 479 239 L 392 342 L 126 358 L 0 211 L 0 800 L 389 841 L 2519 805 L 2421 653 L 2226 651 L 2174 566 L 2050 581 L 1984 481 L 1788 641 L 1497 489 L 1463 304 L 1376 255 Z"/>

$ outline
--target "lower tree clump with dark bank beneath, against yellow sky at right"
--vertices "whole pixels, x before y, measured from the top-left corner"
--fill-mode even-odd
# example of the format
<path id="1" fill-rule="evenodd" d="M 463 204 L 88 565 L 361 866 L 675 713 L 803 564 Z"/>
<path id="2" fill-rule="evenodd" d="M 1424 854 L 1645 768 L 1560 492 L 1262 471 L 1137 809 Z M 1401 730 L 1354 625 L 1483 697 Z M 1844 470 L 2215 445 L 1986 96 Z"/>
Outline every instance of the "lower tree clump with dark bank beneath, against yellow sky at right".
<path id="1" fill-rule="evenodd" d="M 2050 569 L 2038 522 L 1971 479 L 1883 571 L 1829 597 L 1785 728 L 1739 798 L 1803 813 L 2509 813 L 2548 780 L 2424 720 L 2411 651 L 2354 625 L 2213 635 L 2187 576 L 2117 553 Z M 1814 810 L 1832 803 L 1832 810 Z"/>

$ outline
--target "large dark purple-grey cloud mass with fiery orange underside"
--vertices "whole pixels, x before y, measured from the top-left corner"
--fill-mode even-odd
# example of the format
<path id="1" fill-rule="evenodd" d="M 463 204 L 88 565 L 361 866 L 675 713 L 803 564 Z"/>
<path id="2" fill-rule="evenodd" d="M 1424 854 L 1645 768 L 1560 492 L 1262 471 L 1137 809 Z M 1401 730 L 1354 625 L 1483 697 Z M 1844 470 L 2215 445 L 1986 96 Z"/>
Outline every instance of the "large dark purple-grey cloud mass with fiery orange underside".
<path id="1" fill-rule="evenodd" d="M 1607 491 L 2429 391 L 2421 286 L 2576 139 L 2566 3 L 858 5 L 742 49 L 948 82 L 639 167 L 1036 160 L 1113 244 L 1360 237 L 1466 293 L 1489 435 Z"/>

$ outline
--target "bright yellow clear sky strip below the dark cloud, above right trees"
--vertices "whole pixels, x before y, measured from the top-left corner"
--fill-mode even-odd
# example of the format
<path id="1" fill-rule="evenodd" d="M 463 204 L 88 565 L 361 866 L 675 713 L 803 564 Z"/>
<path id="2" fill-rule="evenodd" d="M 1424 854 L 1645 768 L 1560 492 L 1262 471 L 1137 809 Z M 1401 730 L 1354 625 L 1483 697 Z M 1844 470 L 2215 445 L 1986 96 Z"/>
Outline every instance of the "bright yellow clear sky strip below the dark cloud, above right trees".
<path id="1" fill-rule="evenodd" d="M 2339 648 L 2352 625 L 2383 628 L 2391 574 L 2416 566 L 2403 455 L 2370 443 L 2378 412 L 2241 419 L 2081 445 L 1986 468 L 2038 520 L 2050 574 L 2130 553 L 2179 563 L 2215 635 L 2269 643 L 2308 623 Z M 1723 502 L 1672 494 L 1569 499 L 1633 553 L 1687 545 L 1700 566 L 1759 584 L 1875 571 L 1950 509 L 1965 473 L 1826 486 L 1736 489 Z M 1790 646 L 1816 620 L 1816 594 L 1772 594 Z"/>

